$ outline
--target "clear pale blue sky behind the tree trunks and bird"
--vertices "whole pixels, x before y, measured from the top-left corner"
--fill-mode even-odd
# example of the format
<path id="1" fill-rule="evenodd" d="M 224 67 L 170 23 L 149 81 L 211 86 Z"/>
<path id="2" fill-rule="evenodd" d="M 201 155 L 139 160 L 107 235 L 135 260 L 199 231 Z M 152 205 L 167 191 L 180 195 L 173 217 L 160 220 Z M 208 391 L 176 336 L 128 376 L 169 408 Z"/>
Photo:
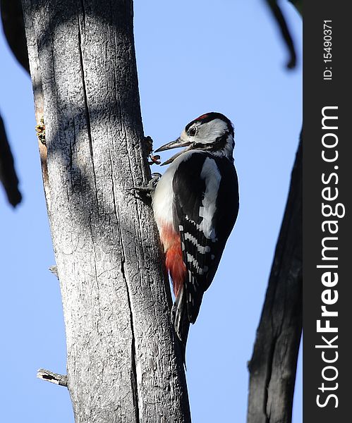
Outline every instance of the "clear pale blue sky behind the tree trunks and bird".
<path id="1" fill-rule="evenodd" d="M 188 340 L 195 423 L 245 422 L 248 371 L 302 123 L 302 25 L 281 4 L 298 49 L 287 52 L 262 0 L 135 0 L 135 47 L 145 134 L 154 147 L 193 118 L 220 111 L 235 125 L 240 213 Z M 59 283 L 42 190 L 30 79 L 0 37 L 0 110 L 23 203 L 0 192 L 0 321 L 4 422 L 73 422 L 65 388 L 35 375 L 66 372 Z M 164 157 L 169 157 L 164 153 Z M 152 167 L 157 171 L 157 166 Z M 302 421 L 301 362 L 293 423 Z"/>

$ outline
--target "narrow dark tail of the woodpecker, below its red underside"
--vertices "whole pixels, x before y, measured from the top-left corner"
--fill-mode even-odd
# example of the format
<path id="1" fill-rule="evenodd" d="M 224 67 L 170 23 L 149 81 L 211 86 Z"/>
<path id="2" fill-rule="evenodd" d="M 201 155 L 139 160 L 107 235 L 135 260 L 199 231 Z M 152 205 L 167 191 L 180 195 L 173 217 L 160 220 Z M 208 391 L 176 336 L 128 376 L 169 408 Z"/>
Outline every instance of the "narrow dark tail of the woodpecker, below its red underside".
<path id="1" fill-rule="evenodd" d="M 176 335 L 181 341 L 181 350 L 183 363 L 186 367 L 186 343 L 188 338 L 188 330 L 190 329 L 190 322 L 188 320 L 186 295 L 184 286 L 182 286 L 177 293 L 176 300 L 171 309 L 171 321 L 174 324 Z"/>

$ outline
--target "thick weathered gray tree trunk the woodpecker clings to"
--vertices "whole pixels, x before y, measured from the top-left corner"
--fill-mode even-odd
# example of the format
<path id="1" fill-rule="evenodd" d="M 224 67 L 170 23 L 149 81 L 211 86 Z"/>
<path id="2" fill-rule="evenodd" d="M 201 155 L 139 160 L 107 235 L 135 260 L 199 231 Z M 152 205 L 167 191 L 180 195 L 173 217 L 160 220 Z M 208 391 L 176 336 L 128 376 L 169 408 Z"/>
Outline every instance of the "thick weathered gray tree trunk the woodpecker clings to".
<path id="1" fill-rule="evenodd" d="M 76 422 L 190 422 L 150 207 L 131 0 L 23 0 Z M 175 352 L 176 350 L 176 352 Z"/>

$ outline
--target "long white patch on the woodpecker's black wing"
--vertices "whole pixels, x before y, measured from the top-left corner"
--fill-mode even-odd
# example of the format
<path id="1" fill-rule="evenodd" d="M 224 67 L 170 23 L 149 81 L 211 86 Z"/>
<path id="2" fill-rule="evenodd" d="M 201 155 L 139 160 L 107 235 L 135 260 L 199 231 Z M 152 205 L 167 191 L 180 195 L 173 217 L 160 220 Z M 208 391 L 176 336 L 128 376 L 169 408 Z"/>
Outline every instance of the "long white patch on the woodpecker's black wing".
<path id="1" fill-rule="evenodd" d="M 212 218 L 217 209 L 217 192 L 221 181 L 219 168 L 213 159 L 205 159 L 200 177 L 205 180 L 205 193 L 202 200 L 202 207 L 199 208 L 199 215 L 203 218 L 200 223 L 200 230 L 205 237 L 216 240 L 217 234 L 212 226 Z"/>

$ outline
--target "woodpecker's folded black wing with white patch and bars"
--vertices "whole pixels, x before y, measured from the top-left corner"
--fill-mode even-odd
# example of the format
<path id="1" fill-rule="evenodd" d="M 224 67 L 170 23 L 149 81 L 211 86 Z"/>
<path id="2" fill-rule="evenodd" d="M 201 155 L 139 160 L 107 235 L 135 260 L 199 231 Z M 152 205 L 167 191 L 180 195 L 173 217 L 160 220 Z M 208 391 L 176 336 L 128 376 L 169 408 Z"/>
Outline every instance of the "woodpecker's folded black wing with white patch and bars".
<path id="1" fill-rule="evenodd" d="M 238 214 L 236 170 L 229 159 L 193 152 L 178 166 L 173 189 L 175 229 L 187 268 L 183 302 L 194 323 Z"/>

